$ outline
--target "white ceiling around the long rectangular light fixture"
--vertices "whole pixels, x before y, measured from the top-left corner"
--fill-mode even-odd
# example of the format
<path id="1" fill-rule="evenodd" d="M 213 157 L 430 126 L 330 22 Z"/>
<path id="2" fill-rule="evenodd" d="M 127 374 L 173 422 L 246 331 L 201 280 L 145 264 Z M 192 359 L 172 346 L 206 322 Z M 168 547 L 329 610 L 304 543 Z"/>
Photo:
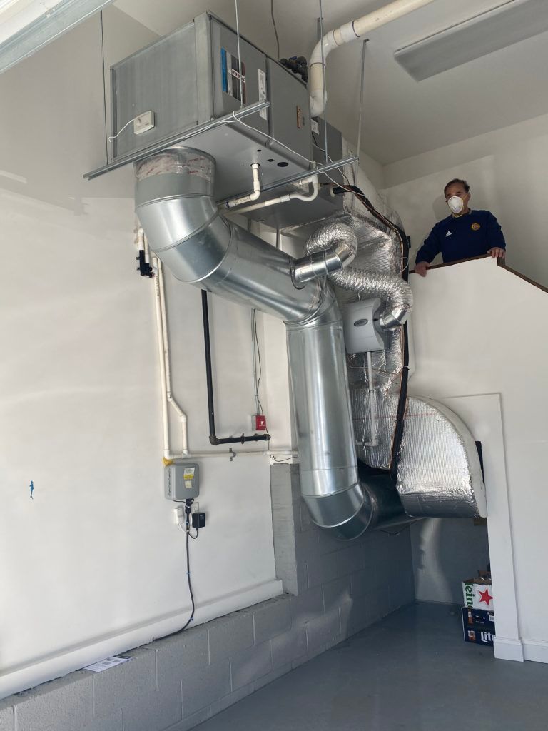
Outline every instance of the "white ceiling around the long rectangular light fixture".
<path id="1" fill-rule="evenodd" d="M 382 164 L 548 113 L 548 33 L 414 81 L 394 60 L 397 48 L 459 23 L 504 0 L 434 0 L 369 34 L 362 149 Z M 323 0 L 324 31 L 387 0 Z M 235 26 L 233 0 L 116 0 L 115 5 L 160 35 L 211 10 Z M 240 33 L 276 55 L 270 0 L 238 0 Z M 274 0 L 281 56 L 309 56 L 316 42 L 319 0 Z M 547 10 L 548 13 L 548 1 Z M 327 119 L 357 139 L 362 45 L 332 52 L 327 62 Z"/>

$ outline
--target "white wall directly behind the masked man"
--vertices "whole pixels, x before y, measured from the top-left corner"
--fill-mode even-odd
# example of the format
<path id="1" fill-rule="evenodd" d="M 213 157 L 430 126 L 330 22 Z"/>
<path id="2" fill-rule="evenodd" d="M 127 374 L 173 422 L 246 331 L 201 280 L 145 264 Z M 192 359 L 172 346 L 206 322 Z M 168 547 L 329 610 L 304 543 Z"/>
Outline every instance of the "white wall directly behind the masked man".
<path id="1" fill-rule="evenodd" d="M 486 208 L 501 223 L 509 265 L 548 286 L 547 129 L 544 115 L 384 167 L 385 194 L 411 236 L 412 263 L 449 213 L 445 184 L 465 178 L 471 208 Z"/>

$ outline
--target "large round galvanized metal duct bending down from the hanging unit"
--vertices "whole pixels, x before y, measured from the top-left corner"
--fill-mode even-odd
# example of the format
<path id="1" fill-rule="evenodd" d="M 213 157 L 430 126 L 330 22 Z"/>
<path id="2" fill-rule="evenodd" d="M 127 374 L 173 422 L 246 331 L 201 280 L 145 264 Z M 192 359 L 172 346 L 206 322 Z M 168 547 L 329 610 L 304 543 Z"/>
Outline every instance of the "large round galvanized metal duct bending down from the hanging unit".
<path id="1" fill-rule="evenodd" d="M 372 520 L 359 482 L 343 326 L 325 279 L 294 284 L 294 260 L 227 221 L 213 198 L 213 158 L 172 148 L 136 165 L 136 210 L 151 249 L 180 281 L 286 323 L 300 482 L 312 518 L 340 538 Z"/>

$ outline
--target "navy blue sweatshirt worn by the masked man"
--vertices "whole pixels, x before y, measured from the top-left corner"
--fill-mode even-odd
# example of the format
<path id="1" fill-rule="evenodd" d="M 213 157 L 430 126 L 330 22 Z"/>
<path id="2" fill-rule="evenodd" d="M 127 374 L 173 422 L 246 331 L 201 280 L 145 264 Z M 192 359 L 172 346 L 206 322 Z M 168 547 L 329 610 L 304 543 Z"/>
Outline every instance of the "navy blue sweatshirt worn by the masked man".
<path id="1" fill-rule="evenodd" d="M 468 211 L 464 216 L 447 216 L 430 231 L 416 254 L 416 262 L 430 263 L 440 253 L 444 262 L 456 262 L 487 254 L 498 246 L 506 249 L 501 226 L 489 211 Z"/>

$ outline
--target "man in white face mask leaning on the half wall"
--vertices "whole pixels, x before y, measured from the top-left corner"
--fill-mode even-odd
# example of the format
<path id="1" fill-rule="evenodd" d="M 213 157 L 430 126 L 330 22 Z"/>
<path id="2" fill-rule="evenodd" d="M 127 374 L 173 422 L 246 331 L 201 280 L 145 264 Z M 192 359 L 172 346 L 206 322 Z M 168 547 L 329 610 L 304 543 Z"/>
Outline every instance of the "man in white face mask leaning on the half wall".
<path id="1" fill-rule="evenodd" d="M 468 208 L 468 183 L 460 179 L 449 181 L 444 188 L 444 196 L 451 216 L 435 224 L 417 251 L 416 273 L 426 276 L 430 262 L 440 252 L 444 263 L 471 259 L 482 254 L 504 259 L 506 242 L 501 226 L 489 211 L 471 211 Z"/>

